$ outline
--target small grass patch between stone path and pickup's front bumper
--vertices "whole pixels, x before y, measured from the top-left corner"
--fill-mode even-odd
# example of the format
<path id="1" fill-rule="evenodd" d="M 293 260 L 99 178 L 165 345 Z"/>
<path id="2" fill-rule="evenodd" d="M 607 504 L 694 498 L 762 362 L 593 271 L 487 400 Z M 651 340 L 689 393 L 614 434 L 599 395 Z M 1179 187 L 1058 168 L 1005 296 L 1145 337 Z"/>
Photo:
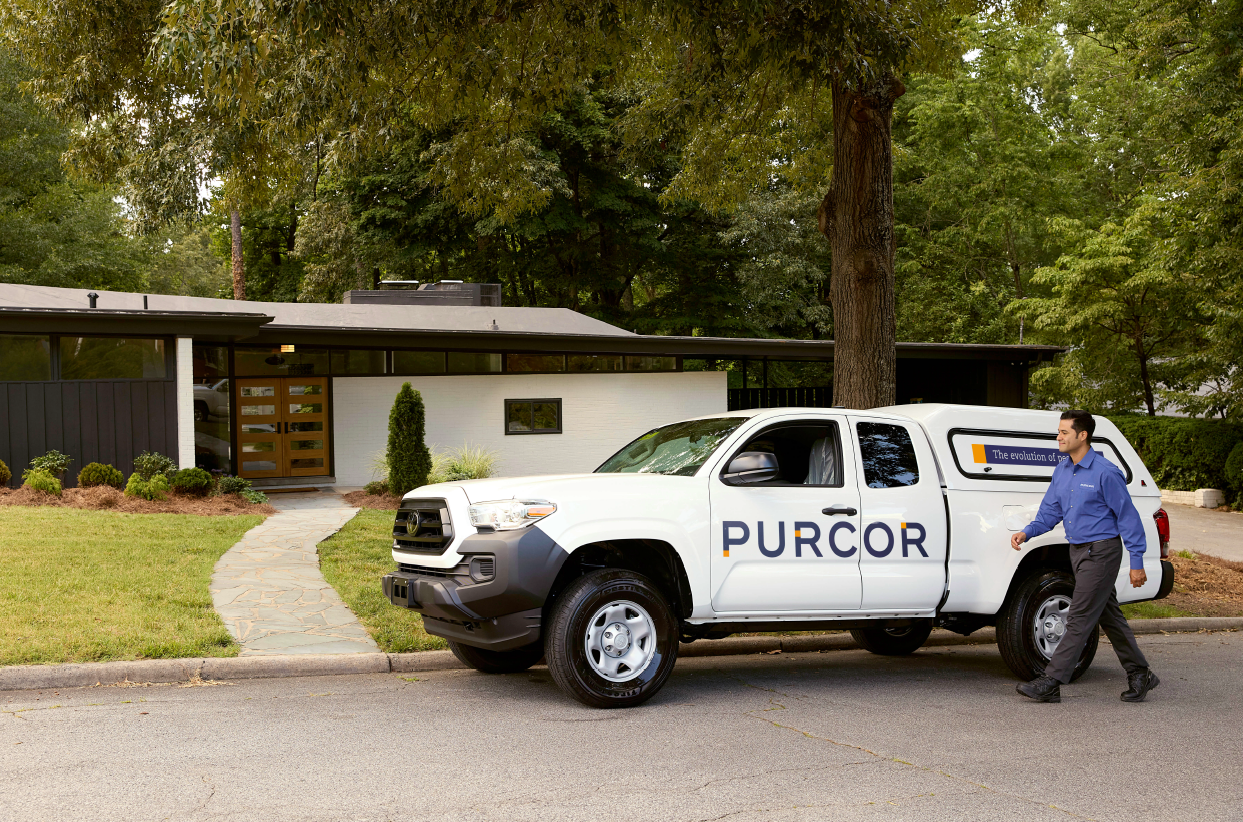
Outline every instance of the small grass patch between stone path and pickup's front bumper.
<path id="1" fill-rule="evenodd" d="M 423 629 L 423 617 L 384 597 L 380 577 L 393 563 L 394 511 L 363 509 L 337 533 L 319 543 L 319 570 L 372 634 L 380 650 L 404 653 L 447 648 Z"/>

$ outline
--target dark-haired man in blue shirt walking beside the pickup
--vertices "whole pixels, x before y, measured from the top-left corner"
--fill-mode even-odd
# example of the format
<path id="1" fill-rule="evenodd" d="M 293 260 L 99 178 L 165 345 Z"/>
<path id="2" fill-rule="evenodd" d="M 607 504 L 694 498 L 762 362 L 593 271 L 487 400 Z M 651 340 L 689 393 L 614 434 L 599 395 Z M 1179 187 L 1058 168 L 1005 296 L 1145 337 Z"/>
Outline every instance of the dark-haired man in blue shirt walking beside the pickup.
<path id="1" fill-rule="evenodd" d="M 1144 522 L 1131 502 L 1122 473 L 1091 450 L 1096 420 L 1083 410 L 1062 414 L 1058 424 L 1058 450 L 1069 455 L 1053 469 L 1053 480 L 1044 494 L 1040 510 L 1025 529 L 1011 537 L 1018 551 L 1029 538 L 1065 522 L 1070 541 L 1070 566 L 1075 572 L 1075 589 L 1070 596 L 1066 633 L 1053 652 L 1044 674 L 1018 686 L 1018 693 L 1040 703 L 1060 703 L 1062 685 L 1083 654 L 1084 645 L 1099 624 L 1114 645 L 1119 662 L 1126 669 L 1127 689 L 1124 703 L 1142 703 L 1149 691 L 1160 684 L 1149 670 L 1149 660 L 1135 643 L 1135 634 L 1117 604 L 1114 581 L 1122 561 L 1122 545 L 1131 555 L 1131 584 L 1147 582 L 1144 572 L 1144 551 L 1147 541 Z"/>

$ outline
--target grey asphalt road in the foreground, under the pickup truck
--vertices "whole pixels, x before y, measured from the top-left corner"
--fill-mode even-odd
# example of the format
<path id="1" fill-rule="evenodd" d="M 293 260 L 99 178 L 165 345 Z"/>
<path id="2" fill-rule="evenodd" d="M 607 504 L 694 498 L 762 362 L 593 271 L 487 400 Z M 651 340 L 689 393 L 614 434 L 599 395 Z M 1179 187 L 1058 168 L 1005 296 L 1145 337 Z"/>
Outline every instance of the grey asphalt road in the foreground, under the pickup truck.
<path id="1" fill-rule="evenodd" d="M 1060 705 L 996 647 L 685 659 L 648 705 L 546 669 L 0 695 L 0 818 L 1243 818 L 1243 633 L 1106 647 Z"/>

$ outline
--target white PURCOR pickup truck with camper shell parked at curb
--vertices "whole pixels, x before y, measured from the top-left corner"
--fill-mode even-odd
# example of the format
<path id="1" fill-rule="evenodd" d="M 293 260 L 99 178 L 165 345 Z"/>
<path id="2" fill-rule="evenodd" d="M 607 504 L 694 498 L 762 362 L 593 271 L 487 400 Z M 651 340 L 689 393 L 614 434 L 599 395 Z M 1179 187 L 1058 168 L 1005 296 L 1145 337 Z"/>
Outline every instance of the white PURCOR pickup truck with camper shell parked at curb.
<path id="1" fill-rule="evenodd" d="M 648 432 L 593 474 L 428 485 L 401 501 L 384 593 L 466 664 L 547 658 L 579 701 L 636 705 L 679 640 L 849 629 L 910 654 L 933 626 L 996 626 L 1022 679 L 1065 629 L 1073 577 L 1058 527 L 1014 551 L 1058 451 L 1058 414 L 972 405 L 773 408 Z M 1161 492 L 1117 428 L 1093 448 L 1126 476 L 1149 582 L 1173 586 Z M 1096 653 L 1096 634 L 1075 675 Z"/>

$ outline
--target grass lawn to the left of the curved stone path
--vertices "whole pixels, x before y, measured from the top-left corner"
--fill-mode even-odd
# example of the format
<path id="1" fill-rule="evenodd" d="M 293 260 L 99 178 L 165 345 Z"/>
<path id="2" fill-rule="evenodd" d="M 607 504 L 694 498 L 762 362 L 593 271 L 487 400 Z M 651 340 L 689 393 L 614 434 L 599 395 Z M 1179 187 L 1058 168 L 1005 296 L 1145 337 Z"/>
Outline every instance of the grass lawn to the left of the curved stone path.
<path id="1" fill-rule="evenodd" d="M 0 665 L 236 655 L 208 583 L 262 519 L 0 509 Z"/>

